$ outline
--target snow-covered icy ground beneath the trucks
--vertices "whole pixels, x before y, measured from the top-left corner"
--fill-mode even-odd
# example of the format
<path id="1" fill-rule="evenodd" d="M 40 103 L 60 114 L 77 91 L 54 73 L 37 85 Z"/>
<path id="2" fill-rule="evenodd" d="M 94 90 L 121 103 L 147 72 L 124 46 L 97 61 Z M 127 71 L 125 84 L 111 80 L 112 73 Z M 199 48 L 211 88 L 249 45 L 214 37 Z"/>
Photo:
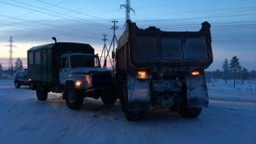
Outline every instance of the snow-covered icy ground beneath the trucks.
<path id="1" fill-rule="evenodd" d="M 49 97 L 40 102 L 35 91 L 0 79 L 0 143 L 256 143 L 255 102 L 218 98 L 196 119 L 151 109 L 143 120 L 131 122 L 119 101 L 106 106 L 86 98 L 82 109 L 72 110 L 60 94 Z"/>

